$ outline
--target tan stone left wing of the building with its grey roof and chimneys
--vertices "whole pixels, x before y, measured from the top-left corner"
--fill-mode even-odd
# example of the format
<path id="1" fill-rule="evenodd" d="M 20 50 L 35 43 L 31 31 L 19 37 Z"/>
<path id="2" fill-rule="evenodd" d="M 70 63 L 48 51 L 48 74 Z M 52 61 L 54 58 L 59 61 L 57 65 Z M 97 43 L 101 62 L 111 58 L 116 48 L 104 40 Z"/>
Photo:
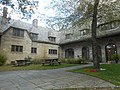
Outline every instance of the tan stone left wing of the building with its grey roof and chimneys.
<path id="1" fill-rule="evenodd" d="M 9 20 L 6 14 L 0 17 L 0 52 L 7 56 L 7 64 L 28 56 L 32 59 L 58 58 L 57 37 L 58 31 L 38 26 L 37 19 L 28 24 Z"/>

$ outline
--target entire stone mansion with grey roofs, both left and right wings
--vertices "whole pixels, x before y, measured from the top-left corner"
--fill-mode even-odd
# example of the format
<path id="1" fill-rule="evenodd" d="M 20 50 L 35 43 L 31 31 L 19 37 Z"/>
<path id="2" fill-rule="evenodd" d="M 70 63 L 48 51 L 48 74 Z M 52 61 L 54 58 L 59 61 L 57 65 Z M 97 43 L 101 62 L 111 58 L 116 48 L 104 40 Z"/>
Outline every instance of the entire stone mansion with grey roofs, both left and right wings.
<path id="1" fill-rule="evenodd" d="M 98 25 L 97 43 L 101 62 L 109 61 L 113 54 L 120 54 L 120 21 Z M 7 56 L 7 64 L 28 56 L 32 59 L 80 57 L 92 60 L 91 30 L 71 27 L 56 31 L 38 26 L 37 19 L 28 24 L 9 20 L 3 14 L 0 17 L 0 52 Z"/>

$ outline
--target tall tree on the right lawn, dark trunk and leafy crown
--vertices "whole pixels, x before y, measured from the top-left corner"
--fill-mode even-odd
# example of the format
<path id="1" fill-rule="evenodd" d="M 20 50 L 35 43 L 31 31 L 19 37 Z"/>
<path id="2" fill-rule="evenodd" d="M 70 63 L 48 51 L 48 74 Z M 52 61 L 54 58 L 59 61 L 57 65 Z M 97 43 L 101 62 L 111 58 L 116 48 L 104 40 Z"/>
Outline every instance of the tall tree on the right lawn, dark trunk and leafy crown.
<path id="1" fill-rule="evenodd" d="M 97 41 L 96 41 L 96 30 L 98 24 L 117 20 L 120 17 L 120 1 L 119 0 L 78 0 L 74 12 L 69 12 L 68 16 L 62 18 L 68 26 L 81 26 L 91 27 L 92 31 L 92 51 L 93 51 L 93 63 L 94 67 L 99 70 L 100 64 L 97 55 Z M 75 5 L 74 4 L 74 5 Z M 64 4 L 63 4 L 64 5 Z M 58 7 L 58 6 L 57 6 Z M 71 6 L 70 6 L 71 7 Z M 63 12 L 67 11 L 67 8 L 60 8 Z M 66 10 L 67 9 L 67 10 Z M 59 11 L 59 12 L 60 12 Z M 69 10 L 68 10 L 69 11 Z M 71 24 L 71 25 L 69 25 Z M 62 25 L 61 25 L 62 26 Z"/>

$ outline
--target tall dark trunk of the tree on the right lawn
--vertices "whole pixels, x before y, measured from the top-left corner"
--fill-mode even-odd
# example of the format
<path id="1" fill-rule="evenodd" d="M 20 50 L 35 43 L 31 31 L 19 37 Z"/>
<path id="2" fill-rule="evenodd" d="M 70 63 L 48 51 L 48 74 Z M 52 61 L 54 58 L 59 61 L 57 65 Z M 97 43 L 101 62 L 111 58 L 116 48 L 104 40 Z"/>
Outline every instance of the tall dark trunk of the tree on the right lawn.
<path id="1" fill-rule="evenodd" d="M 96 30 L 97 30 L 97 8 L 99 5 L 99 0 L 94 0 L 94 10 L 93 10 L 93 20 L 92 20 L 92 55 L 93 55 L 93 64 L 94 68 L 99 70 L 100 63 L 97 59 L 97 40 L 96 40 Z"/>

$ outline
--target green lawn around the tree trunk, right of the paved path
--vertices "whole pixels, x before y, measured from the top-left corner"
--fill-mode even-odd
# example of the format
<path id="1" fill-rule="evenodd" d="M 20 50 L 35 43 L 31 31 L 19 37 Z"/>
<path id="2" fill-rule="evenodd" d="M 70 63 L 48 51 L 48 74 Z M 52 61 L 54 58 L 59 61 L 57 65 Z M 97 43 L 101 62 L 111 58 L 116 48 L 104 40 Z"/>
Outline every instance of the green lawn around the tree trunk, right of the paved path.
<path id="1" fill-rule="evenodd" d="M 83 69 L 76 69 L 70 71 L 98 77 L 120 86 L 120 64 L 102 64 L 101 68 L 106 70 L 100 70 L 95 72 L 94 68 L 91 66 Z"/>

